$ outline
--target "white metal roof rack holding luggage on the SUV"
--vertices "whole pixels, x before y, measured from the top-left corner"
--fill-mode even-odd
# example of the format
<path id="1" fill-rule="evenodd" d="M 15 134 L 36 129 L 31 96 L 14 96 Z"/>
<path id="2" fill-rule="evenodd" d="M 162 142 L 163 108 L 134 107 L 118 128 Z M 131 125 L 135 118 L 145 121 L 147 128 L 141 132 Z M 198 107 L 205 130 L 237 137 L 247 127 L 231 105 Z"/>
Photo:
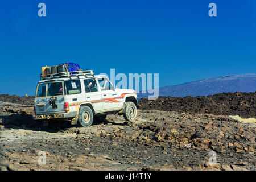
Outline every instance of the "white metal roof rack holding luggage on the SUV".
<path id="1" fill-rule="evenodd" d="M 73 71 L 73 72 L 61 72 L 61 73 L 53 73 L 53 74 L 47 74 L 47 75 L 42 75 L 40 74 L 40 80 L 48 80 L 48 79 L 53 79 L 53 78 L 63 78 L 63 77 L 69 77 L 71 78 L 71 76 L 76 76 L 76 77 L 79 77 L 79 76 L 85 76 L 87 77 L 86 75 L 91 75 L 94 77 L 94 73 L 92 70 L 86 70 L 86 71 Z"/>

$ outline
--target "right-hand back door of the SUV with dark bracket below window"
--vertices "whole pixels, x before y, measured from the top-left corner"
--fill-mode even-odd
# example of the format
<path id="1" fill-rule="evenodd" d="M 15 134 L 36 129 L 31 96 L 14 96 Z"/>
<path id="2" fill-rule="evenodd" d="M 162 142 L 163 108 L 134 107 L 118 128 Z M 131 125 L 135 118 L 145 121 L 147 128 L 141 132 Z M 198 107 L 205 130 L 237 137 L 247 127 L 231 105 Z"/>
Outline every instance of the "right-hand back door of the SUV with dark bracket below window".
<path id="1" fill-rule="evenodd" d="M 46 107 L 47 113 L 63 113 L 64 108 L 64 83 L 63 81 L 47 84 Z"/>

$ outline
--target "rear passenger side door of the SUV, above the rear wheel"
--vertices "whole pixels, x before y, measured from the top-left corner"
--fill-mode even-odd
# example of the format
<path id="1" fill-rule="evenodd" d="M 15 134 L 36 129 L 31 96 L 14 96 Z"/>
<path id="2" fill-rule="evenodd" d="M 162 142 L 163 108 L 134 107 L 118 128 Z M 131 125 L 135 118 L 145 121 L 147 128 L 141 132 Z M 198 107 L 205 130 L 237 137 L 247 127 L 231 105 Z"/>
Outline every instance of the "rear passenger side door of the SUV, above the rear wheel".
<path id="1" fill-rule="evenodd" d="M 95 78 L 84 80 L 86 101 L 93 104 L 94 111 L 102 110 L 102 96 Z"/>

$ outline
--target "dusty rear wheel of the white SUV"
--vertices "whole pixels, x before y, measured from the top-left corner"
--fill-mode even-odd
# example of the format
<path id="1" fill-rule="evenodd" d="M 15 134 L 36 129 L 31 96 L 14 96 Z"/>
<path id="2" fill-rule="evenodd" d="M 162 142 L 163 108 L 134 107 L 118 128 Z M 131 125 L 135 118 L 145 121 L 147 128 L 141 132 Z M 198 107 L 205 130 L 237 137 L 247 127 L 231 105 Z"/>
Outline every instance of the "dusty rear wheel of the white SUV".
<path id="1" fill-rule="evenodd" d="M 88 106 L 81 106 L 79 109 L 79 118 L 78 122 L 79 126 L 89 127 L 93 123 L 93 112 L 92 109 Z"/>

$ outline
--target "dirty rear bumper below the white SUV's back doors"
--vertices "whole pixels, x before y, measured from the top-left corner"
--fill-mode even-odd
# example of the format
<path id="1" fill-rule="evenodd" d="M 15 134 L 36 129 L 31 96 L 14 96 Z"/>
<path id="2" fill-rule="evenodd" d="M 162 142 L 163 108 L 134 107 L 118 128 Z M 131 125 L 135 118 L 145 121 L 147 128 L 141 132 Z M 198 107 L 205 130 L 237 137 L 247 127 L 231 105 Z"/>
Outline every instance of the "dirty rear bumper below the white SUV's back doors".
<path id="1" fill-rule="evenodd" d="M 60 119 L 60 118 L 74 118 L 76 117 L 77 112 L 68 112 L 68 113 L 54 113 L 54 114 L 36 114 L 33 115 L 33 119 Z"/>

